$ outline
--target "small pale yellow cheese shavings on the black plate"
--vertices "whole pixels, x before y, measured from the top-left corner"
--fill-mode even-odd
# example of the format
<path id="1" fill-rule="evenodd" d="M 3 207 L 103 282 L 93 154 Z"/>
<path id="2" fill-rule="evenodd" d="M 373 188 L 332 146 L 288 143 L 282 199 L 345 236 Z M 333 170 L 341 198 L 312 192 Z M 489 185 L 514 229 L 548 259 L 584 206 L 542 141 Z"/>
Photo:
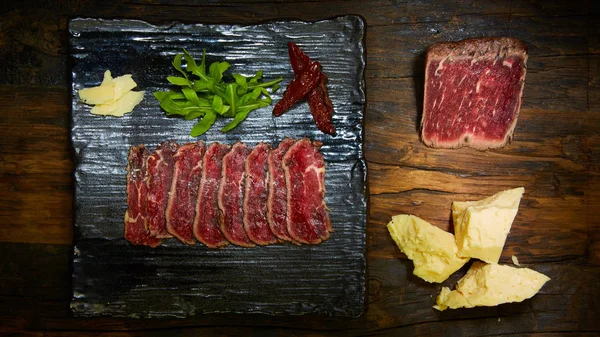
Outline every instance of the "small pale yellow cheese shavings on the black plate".
<path id="1" fill-rule="evenodd" d="M 97 87 L 79 90 L 79 99 L 94 105 L 94 115 L 121 117 L 131 112 L 143 97 L 143 91 L 131 91 L 137 84 L 130 74 L 113 78 L 110 70 L 104 72 L 104 79 Z"/>

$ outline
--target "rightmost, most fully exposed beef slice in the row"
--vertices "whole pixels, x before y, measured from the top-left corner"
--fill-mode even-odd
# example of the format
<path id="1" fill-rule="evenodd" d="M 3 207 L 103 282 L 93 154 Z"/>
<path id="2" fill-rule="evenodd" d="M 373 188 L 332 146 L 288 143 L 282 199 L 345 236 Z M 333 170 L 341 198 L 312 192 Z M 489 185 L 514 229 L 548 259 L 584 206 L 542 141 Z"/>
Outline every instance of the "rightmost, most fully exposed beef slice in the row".
<path id="1" fill-rule="evenodd" d="M 303 138 L 283 156 L 287 187 L 287 229 L 298 242 L 318 244 L 333 231 L 325 205 L 325 161 L 321 144 Z"/>

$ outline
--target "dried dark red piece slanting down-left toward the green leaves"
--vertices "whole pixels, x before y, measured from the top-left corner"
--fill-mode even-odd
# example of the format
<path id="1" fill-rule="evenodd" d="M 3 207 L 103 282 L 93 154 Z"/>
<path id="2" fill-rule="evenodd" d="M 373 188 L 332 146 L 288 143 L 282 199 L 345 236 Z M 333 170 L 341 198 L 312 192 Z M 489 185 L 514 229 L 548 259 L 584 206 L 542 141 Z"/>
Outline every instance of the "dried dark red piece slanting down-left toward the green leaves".
<path id="1" fill-rule="evenodd" d="M 273 108 L 273 115 L 281 116 L 287 109 L 305 98 L 319 84 L 320 78 L 321 65 L 319 62 L 314 62 L 288 84 L 283 97 Z"/>

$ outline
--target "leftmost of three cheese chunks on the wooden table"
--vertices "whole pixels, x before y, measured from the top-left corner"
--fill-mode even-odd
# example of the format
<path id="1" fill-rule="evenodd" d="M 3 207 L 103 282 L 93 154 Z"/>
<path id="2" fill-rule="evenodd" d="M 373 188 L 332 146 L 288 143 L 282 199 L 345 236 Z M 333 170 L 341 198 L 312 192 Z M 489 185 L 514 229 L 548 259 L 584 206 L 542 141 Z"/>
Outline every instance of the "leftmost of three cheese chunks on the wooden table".
<path id="1" fill-rule="evenodd" d="M 427 282 L 443 282 L 469 261 L 456 255 L 454 235 L 416 216 L 393 216 L 387 228 L 400 250 L 413 261 L 413 273 Z"/>

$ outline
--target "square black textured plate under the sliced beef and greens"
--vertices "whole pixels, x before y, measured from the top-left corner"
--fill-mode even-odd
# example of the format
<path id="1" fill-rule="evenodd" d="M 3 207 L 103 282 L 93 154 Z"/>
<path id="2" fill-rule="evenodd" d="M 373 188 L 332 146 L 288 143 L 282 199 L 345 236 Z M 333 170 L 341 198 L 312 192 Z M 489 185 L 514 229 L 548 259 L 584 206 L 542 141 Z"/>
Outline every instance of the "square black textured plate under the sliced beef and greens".
<path id="1" fill-rule="evenodd" d="M 356 16 L 319 22 L 277 21 L 258 25 L 172 24 L 74 19 L 69 25 L 73 58 L 72 142 L 76 152 L 73 299 L 76 316 L 186 317 L 203 313 L 359 316 L 365 306 L 366 165 L 363 159 L 364 23 Z M 287 41 L 296 42 L 329 76 L 338 131 L 318 131 L 306 103 L 274 118 L 272 107 L 250 113 L 227 134 L 217 125 L 207 143 L 272 145 L 284 137 L 323 142 L 326 202 L 335 230 L 316 246 L 234 246 L 212 250 L 175 239 L 158 248 L 123 239 L 126 160 L 131 145 L 150 149 L 189 137 L 193 121 L 167 118 L 152 93 L 176 75 L 170 62 L 186 48 L 207 61 L 226 60 L 231 72 L 264 78 L 293 77 Z M 144 101 L 122 118 L 98 117 L 77 99 L 77 90 L 98 85 L 104 70 L 130 73 Z M 139 90 L 138 89 L 138 90 Z M 283 90 L 273 95 L 274 102 Z"/>

